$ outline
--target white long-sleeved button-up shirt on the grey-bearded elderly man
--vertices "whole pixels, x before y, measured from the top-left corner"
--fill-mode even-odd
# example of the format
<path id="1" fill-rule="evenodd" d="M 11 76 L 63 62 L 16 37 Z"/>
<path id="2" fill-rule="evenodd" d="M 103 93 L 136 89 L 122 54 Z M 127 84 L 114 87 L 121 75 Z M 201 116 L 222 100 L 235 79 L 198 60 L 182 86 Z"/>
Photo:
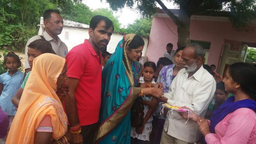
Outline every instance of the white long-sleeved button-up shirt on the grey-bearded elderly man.
<path id="1" fill-rule="evenodd" d="M 171 88 L 164 96 L 168 98 L 167 103 L 177 106 L 187 106 L 197 115 L 204 117 L 207 107 L 214 96 L 216 82 L 212 75 L 201 66 L 197 72 L 188 77 L 189 72 L 181 69 L 174 78 Z M 188 143 L 194 143 L 199 138 L 198 125 L 184 119 L 180 113 L 173 111 L 170 121 L 166 118 L 164 130 L 172 137 Z"/>

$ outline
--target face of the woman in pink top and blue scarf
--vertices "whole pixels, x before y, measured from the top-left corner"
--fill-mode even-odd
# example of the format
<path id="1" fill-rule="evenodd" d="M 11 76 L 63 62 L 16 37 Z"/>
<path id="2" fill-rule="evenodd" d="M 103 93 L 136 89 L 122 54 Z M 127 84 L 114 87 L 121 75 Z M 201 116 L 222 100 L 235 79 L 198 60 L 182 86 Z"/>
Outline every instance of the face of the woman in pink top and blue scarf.
<path id="1" fill-rule="evenodd" d="M 234 82 L 234 80 L 230 76 L 229 69 L 226 72 L 226 77 L 222 81 L 225 84 L 225 91 L 230 92 L 231 94 L 233 94 L 236 88 L 240 87 L 240 85 L 237 82 Z"/>

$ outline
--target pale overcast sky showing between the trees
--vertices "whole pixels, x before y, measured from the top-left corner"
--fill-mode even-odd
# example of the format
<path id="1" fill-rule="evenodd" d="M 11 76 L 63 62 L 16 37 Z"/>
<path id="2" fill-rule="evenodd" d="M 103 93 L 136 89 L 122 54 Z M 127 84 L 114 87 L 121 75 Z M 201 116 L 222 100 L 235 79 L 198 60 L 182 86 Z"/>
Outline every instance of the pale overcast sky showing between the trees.
<path id="1" fill-rule="evenodd" d="M 102 2 L 101 0 L 83 0 L 83 3 L 90 7 L 90 9 L 92 10 L 95 10 L 97 8 L 109 8 L 109 4 L 106 3 L 106 0 L 102 0 Z M 174 8 L 174 5 L 170 2 L 166 2 L 163 0 L 163 3 L 167 8 Z M 158 5 L 158 7 L 160 6 Z M 130 10 L 127 7 L 125 7 L 122 11 L 114 12 L 114 15 L 119 16 L 119 22 L 122 24 L 122 26 L 127 26 L 135 19 L 140 18 L 140 15 L 138 13 Z"/>

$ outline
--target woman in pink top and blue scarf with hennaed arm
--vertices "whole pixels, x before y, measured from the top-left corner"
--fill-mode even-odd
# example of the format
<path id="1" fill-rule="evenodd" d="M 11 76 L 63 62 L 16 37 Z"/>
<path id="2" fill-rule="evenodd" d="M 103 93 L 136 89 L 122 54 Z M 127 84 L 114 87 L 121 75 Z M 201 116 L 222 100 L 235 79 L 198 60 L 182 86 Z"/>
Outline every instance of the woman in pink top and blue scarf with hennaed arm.
<path id="1" fill-rule="evenodd" d="M 212 112 L 211 121 L 193 111 L 189 118 L 199 125 L 207 144 L 255 144 L 256 68 L 244 62 L 234 63 L 223 82 L 225 90 L 234 96 Z M 188 118 L 187 113 L 181 113 L 181 116 Z"/>

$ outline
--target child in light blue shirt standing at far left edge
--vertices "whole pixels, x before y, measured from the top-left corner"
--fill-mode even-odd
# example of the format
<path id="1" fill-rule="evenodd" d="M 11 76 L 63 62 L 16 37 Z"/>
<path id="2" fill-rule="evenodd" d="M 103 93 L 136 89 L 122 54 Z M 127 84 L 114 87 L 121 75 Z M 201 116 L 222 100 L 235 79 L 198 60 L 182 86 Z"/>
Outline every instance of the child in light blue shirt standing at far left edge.
<path id="1" fill-rule="evenodd" d="M 4 57 L 6 73 L 0 75 L 0 106 L 8 114 L 10 120 L 8 131 L 11 127 L 12 120 L 16 114 L 14 105 L 11 102 L 12 97 L 20 88 L 24 73 L 18 70 L 22 63 L 15 53 L 10 52 Z M 8 135 L 8 134 L 7 134 Z M 0 143 L 5 143 L 6 137 L 0 139 Z"/>

